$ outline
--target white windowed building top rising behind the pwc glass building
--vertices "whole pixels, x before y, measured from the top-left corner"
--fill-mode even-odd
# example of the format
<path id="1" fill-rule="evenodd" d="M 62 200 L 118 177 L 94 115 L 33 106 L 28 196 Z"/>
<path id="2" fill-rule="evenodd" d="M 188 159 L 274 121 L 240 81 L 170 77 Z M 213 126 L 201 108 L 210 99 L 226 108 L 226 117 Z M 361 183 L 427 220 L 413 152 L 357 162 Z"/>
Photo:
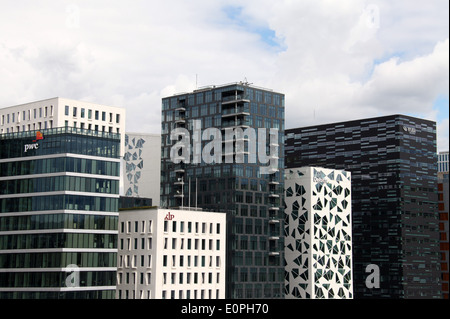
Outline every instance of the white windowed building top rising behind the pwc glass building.
<path id="1" fill-rule="evenodd" d="M 0 134 L 76 127 L 121 134 L 125 142 L 125 109 L 55 97 L 0 109 Z"/>

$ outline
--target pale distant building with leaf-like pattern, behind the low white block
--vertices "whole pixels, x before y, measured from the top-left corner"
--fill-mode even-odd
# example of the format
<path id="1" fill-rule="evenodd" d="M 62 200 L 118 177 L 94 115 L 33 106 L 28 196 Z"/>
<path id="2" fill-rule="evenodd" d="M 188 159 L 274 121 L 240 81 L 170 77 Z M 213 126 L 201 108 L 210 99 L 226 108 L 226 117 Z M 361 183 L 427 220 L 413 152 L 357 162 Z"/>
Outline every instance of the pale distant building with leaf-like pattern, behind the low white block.
<path id="1" fill-rule="evenodd" d="M 124 195 L 151 198 L 159 206 L 161 135 L 126 133 L 124 153 Z"/>

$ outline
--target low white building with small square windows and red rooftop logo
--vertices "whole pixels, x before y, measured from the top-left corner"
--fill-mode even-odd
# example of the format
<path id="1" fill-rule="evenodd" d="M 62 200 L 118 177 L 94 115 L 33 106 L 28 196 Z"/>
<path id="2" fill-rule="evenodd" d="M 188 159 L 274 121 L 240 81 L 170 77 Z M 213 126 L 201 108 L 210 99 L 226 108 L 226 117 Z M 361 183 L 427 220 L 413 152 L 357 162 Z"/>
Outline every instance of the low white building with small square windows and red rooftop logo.
<path id="1" fill-rule="evenodd" d="M 224 299 L 226 215 L 130 209 L 119 214 L 118 299 Z"/>

